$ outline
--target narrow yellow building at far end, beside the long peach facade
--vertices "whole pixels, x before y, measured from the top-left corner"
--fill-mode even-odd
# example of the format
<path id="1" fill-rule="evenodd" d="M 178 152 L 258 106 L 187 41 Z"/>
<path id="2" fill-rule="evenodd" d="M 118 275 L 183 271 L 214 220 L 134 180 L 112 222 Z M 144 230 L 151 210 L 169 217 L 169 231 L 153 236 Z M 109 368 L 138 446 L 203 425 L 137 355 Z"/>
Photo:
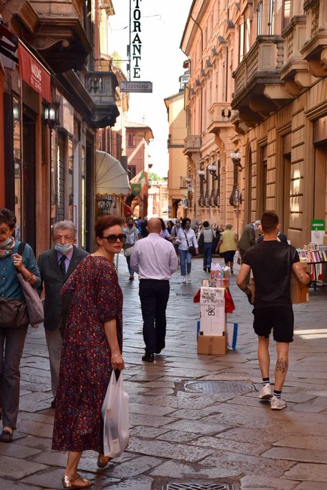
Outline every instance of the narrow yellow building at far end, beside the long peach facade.
<path id="1" fill-rule="evenodd" d="M 164 99 L 169 124 L 168 134 L 168 217 L 184 217 L 185 206 L 192 183 L 188 177 L 188 161 L 184 155 L 184 139 L 187 135 L 185 90 Z"/>

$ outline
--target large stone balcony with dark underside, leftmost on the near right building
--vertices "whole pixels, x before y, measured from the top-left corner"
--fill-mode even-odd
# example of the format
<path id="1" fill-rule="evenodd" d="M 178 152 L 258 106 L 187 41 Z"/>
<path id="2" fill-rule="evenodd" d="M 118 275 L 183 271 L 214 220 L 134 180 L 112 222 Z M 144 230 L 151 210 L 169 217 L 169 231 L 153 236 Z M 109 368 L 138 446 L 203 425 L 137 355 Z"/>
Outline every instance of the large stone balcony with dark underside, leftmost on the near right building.
<path id="1" fill-rule="evenodd" d="M 279 72 L 284 62 L 281 36 L 258 36 L 237 70 L 232 108 L 249 127 L 259 124 L 293 99 Z"/>

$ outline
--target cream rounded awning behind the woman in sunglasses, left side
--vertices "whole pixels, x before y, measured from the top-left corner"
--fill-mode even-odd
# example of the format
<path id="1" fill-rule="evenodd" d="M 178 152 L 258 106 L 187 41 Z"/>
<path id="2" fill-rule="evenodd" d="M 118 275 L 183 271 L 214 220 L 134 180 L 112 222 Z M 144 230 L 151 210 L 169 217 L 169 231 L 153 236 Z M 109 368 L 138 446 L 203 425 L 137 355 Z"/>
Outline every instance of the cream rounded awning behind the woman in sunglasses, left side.
<path id="1" fill-rule="evenodd" d="M 95 152 L 95 193 L 110 195 L 128 195 L 130 183 L 128 176 L 120 161 L 106 153 L 106 151 Z"/>

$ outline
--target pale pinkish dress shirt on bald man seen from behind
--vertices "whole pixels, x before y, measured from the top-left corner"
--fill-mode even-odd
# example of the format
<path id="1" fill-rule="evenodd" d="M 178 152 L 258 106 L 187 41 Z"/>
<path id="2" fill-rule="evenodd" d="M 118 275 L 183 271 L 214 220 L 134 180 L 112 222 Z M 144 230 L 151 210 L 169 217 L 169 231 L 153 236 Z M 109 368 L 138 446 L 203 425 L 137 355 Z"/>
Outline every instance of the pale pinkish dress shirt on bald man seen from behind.
<path id="1" fill-rule="evenodd" d="M 169 281 L 177 265 L 175 248 L 159 233 L 149 233 L 136 242 L 130 255 L 130 266 L 139 274 L 139 279 Z"/>

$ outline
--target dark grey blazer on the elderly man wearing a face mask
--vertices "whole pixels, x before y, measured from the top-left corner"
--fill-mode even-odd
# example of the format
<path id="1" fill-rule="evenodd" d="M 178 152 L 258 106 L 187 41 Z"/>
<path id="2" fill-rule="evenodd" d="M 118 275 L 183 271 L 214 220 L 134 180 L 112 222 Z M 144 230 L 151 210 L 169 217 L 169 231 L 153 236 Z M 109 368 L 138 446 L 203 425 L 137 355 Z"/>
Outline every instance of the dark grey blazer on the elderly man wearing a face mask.
<path id="1" fill-rule="evenodd" d="M 75 268 L 77 268 L 79 262 L 81 262 L 81 260 L 83 260 L 83 258 L 87 255 L 88 252 L 74 246 L 72 259 L 70 260 L 68 271 L 64 279 L 59 268 L 57 251 L 54 250 L 54 248 L 50 248 L 50 250 L 47 250 L 39 255 L 37 265 L 39 266 L 41 275 L 41 284 L 43 285 L 46 293 L 43 304 L 45 329 L 55 330 L 58 328 L 61 320 L 61 288 L 72 271 L 75 271 Z"/>

